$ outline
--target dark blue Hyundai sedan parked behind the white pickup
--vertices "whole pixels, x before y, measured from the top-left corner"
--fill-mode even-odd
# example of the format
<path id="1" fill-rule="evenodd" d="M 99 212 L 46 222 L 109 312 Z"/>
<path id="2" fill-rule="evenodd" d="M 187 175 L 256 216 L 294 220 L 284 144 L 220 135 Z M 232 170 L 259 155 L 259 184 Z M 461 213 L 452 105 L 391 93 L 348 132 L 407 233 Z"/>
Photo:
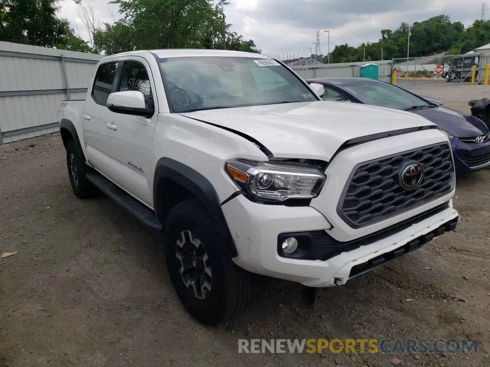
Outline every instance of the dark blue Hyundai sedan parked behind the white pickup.
<path id="1" fill-rule="evenodd" d="M 309 79 L 325 88 L 322 99 L 363 103 L 410 111 L 439 125 L 451 140 L 456 174 L 490 168 L 489 128 L 477 117 L 447 107 L 427 97 L 368 78 Z"/>

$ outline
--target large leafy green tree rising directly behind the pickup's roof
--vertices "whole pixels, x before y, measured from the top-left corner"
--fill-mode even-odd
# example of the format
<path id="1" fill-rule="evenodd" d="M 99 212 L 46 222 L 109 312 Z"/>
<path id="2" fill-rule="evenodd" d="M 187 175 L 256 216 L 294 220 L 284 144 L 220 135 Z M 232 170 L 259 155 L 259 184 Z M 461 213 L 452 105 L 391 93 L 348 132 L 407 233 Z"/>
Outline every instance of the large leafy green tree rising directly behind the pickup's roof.
<path id="1" fill-rule="evenodd" d="M 260 52 L 252 40 L 223 24 L 225 0 L 114 0 L 121 20 L 94 35 L 94 48 L 106 54 L 135 49 L 226 48 Z"/>

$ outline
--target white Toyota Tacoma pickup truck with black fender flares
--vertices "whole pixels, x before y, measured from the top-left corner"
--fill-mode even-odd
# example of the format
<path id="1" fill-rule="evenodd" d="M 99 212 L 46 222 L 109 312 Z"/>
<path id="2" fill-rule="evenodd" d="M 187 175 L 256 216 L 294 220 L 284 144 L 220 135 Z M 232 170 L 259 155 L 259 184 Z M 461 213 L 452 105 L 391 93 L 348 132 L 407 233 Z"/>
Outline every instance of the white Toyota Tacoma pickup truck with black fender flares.
<path id="1" fill-rule="evenodd" d="M 162 233 L 175 291 L 207 324 L 245 309 L 251 273 L 339 286 L 454 230 L 438 126 L 323 92 L 254 53 L 105 57 L 59 112 L 73 192 Z"/>

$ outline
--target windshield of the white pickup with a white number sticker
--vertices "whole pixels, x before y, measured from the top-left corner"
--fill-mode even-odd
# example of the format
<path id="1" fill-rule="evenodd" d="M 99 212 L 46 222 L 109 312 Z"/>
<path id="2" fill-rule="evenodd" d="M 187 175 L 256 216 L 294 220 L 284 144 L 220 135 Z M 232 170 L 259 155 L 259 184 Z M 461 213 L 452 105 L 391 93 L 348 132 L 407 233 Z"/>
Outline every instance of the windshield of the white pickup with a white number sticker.
<path id="1" fill-rule="evenodd" d="M 270 59 L 173 57 L 159 62 L 172 112 L 318 100 Z"/>

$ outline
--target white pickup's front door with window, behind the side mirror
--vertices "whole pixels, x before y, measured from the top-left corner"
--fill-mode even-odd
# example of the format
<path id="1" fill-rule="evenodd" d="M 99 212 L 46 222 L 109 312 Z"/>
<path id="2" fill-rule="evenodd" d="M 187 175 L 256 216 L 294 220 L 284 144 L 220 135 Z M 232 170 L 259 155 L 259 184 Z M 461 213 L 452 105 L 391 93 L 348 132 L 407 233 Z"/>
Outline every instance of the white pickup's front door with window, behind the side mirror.
<path id="1" fill-rule="evenodd" d="M 145 96 L 146 108 L 154 109 L 152 117 L 111 112 L 107 130 L 111 153 L 110 178 L 134 197 L 153 207 L 152 141 L 158 115 L 153 78 L 147 61 L 142 57 L 123 59 L 116 92 L 139 91 Z"/>

